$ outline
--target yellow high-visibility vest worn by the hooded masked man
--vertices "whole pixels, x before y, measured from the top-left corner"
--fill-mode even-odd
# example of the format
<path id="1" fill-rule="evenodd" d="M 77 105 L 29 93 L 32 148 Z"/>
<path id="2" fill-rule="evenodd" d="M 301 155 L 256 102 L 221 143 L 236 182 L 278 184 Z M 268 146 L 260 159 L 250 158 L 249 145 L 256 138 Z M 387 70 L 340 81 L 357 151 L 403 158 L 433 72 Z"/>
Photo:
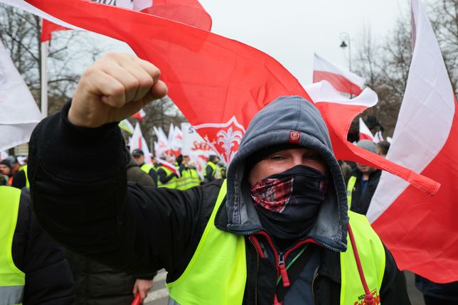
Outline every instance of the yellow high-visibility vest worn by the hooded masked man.
<path id="1" fill-rule="evenodd" d="M 247 279 L 245 237 L 215 227 L 215 215 L 225 195 L 226 181 L 221 186 L 215 208 L 191 261 L 179 279 L 166 284 L 170 293 L 169 305 L 242 304 Z M 366 282 L 379 305 L 385 249 L 363 215 L 351 211 L 348 215 Z M 348 249 L 340 255 L 340 304 L 360 304 L 365 292 L 348 236 L 347 244 Z"/>

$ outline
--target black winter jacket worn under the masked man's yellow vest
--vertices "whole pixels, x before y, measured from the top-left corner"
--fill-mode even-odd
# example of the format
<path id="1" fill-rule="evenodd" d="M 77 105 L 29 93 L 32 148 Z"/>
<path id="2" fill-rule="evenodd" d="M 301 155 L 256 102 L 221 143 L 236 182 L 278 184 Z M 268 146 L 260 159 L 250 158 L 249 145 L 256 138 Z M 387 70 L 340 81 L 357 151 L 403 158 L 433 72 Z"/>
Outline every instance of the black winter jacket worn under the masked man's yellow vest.
<path id="1" fill-rule="evenodd" d="M 128 159 L 116 124 L 75 127 L 67 112 L 68 105 L 43 120 L 31 137 L 31 191 L 43 227 L 66 247 L 117 269 L 139 273 L 165 268 L 167 282 L 178 279 L 196 250 L 222 181 L 188 191 L 133 183 L 126 188 L 122 168 Z M 100 161 L 102 154 L 107 158 Z M 85 162 L 80 162 L 82 156 Z M 96 160 L 97 168 L 87 165 Z M 227 223 L 224 203 L 215 225 L 227 230 Z M 265 243 L 262 238 L 258 239 Z M 272 255 L 259 259 L 252 240 L 245 241 L 248 278 L 243 304 L 272 304 L 277 266 Z M 314 245 L 309 249 L 321 254 L 314 283 L 316 304 L 339 304 L 339 252 Z M 403 287 L 386 251 L 383 304 L 410 304 Z"/>

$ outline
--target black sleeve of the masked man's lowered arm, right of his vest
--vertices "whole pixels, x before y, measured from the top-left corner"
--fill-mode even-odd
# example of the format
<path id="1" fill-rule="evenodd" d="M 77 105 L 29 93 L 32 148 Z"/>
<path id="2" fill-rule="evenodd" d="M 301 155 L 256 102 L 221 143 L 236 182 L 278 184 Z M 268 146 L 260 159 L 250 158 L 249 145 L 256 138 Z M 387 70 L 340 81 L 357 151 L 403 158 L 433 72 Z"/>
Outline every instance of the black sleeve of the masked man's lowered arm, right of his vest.
<path id="1" fill-rule="evenodd" d="M 405 275 L 399 271 L 393 255 L 386 247 L 385 273 L 380 288 L 380 302 L 381 304 L 410 304 Z"/>

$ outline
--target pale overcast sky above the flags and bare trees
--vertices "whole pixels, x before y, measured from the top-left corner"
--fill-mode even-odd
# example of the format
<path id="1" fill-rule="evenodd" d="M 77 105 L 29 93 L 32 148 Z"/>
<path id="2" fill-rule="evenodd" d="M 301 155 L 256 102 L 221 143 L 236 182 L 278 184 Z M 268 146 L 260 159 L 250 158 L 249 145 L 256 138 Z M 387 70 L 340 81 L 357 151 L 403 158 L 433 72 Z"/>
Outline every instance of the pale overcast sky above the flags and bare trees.
<path id="1" fill-rule="evenodd" d="M 311 82 L 314 52 L 348 67 L 348 48 L 339 48 L 341 33 L 350 35 L 354 58 L 365 28 L 374 39 L 383 39 L 410 8 L 408 0 L 201 0 L 201 4 L 212 17 L 213 33 L 271 55 L 302 85 Z M 106 41 L 108 50 L 128 50 L 122 43 Z"/>

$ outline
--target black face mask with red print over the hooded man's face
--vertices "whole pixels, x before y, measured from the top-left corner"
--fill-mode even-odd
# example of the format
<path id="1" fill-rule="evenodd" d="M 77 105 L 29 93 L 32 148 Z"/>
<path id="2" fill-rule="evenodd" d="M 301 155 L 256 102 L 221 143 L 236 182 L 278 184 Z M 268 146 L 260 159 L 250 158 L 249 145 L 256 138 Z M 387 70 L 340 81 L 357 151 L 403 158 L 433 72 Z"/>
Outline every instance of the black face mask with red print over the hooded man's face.
<path id="1" fill-rule="evenodd" d="M 303 165 L 256 183 L 251 188 L 251 198 L 262 227 L 281 239 L 306 235 L 315 223 L 326 184 L 323 173 Z"/>

